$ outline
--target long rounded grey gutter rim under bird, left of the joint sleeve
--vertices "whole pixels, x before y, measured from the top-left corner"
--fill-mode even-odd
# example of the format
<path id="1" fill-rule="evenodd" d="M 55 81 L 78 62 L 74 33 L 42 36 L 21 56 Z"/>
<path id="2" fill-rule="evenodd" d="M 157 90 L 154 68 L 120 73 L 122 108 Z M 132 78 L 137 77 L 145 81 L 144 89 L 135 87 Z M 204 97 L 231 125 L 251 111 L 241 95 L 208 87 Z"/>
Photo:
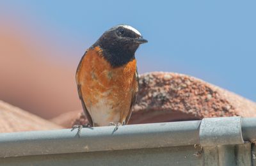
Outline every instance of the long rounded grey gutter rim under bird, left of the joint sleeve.
<path id="1" fill-rule="evenodd" d="M 0 133 L 0 158 L 199 144 L 200 121 Z"/>

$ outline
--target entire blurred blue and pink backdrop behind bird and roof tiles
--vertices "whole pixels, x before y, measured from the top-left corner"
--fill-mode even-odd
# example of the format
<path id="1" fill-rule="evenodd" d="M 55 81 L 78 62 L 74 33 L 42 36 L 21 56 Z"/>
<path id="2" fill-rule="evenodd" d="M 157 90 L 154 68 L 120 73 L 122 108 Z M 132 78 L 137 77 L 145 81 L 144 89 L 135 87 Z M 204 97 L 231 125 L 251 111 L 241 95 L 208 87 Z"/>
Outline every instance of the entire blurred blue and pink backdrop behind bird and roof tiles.
<path id="1" fill-rule="evenodd" d="M 256 1 L 0 1 L 0 100 L 47 119 L 81 109 L 75 73 L 109 27 L 148 43 L 138 72 L 193 75 L 256 101 Z"/>

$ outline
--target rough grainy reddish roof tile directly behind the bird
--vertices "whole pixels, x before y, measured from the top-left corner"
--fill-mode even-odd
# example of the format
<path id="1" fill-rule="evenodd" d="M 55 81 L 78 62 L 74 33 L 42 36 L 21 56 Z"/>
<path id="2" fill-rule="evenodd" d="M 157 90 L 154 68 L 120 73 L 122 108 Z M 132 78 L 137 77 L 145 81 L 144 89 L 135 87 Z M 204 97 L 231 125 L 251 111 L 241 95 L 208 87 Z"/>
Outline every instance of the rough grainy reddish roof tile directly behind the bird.
<path id="1" fill-rule="evenodd" d="M 61 121 L 61 117 L 54 121 L 57 123 L 58 119 L 58 124 L 65 121 L 66 127 L 86 123 L 86 117 L 79 112 L 82 111 L 69 113 L 78 114 L 73 121 Z M 255 117 L 256 103 L 195 77 L 153 72 L 140 75 L 140 91 L 129 124 L 225 116 Z"/>

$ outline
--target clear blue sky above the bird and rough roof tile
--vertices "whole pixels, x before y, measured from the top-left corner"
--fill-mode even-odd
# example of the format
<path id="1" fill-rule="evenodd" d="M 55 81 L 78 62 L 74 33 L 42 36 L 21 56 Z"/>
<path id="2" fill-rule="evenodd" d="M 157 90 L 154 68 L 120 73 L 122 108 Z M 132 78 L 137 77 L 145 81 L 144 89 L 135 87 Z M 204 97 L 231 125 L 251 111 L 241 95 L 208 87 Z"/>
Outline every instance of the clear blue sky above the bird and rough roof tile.
<path id="1" fill-rule="evenodd" d="M 1 1 L 0 14 L 68 52 L 61 58 L 70 63 L 109 27 L 129 24 L 148 40 L 136 52 L 139 73 L 186 73 L 256 101 L 255 7 L 256 1 Z"/>

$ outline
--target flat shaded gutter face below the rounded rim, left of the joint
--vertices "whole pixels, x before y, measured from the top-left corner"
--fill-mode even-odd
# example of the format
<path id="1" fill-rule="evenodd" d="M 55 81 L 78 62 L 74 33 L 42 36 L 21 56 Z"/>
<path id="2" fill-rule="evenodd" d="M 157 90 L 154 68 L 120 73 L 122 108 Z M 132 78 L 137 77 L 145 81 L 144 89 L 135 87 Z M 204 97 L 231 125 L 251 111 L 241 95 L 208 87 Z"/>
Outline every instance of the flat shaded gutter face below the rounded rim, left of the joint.
<path id="1" fill-rule="evenodd" d="M 0 158 L 0 165 L 204 165 L 193 146 Z"/>

